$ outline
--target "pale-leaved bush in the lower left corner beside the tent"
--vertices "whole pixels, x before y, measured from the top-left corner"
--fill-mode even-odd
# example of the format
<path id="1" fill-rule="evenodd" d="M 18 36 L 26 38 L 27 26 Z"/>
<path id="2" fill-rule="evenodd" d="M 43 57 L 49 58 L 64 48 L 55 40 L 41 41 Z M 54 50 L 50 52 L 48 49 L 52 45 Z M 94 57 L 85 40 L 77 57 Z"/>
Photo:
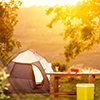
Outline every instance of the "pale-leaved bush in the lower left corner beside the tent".
<path id="1" fill-rule="evenodd" d="M 5 100 L 10 98 L 10 96 L 5 95 L 4 91 L 8 90 L 7 86 L 9 86 L 8 83 L 6 83 L 6 79 L 9 75 L 5 73 L 5 69 L 2 69 L 0 67 L 0 100 Z"/>

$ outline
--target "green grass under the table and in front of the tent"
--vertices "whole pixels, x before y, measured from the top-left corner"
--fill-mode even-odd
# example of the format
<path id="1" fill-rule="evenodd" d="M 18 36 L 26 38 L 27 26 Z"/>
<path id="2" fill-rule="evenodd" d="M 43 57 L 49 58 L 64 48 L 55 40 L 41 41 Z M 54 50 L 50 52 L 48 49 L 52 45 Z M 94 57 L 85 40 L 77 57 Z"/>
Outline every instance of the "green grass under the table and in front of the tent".
<path id="1" fill-rule="evenodd" d="M 74 91 L 77 83 L 88 82 L 87 78 L 61 78 L 59 91 Z M 50 98 L 49 93 L 14 94 L 9 100 L 76 100 L 76 95 L 59 95 L 55 99 Z M 96 77 L 96 94 L 94 100 L 100 100 L 100 77 Z"/>

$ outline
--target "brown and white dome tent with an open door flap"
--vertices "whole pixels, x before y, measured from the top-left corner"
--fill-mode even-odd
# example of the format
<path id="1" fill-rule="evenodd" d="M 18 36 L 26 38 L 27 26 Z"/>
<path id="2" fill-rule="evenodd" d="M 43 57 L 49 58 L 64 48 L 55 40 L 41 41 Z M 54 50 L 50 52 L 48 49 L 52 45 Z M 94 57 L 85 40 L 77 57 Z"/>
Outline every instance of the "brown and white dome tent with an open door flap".
<path id="1" fill-rule="evenodd" d="M 10 74 L 9 92 L 46 93 L 50 90 L 50 76 L 46 72 L 53 71 L 51 63 L 32 50 L 25 50 L 16 55 L 7 67 Z"/>

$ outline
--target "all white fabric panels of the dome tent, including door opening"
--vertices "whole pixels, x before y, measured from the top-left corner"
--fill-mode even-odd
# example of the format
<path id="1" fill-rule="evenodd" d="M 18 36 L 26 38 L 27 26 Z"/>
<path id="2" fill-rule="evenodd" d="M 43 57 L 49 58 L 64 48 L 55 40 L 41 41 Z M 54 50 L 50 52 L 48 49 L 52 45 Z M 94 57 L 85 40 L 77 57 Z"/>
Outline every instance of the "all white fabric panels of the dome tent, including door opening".
<path id="1" fill-rule="evenodd" d="M 51 63 L 48 63 L 43 57 L 38 55 L 36 52 L 32 52 L 31 50 L 27 50 L 25 52 L 20 53 L 15 59 L 13 59 L 13 61 L 18 63 L 28 63 L 28 64 L 40 61 L 43 69 L 45 70 L 45 73 L 53 72 L 51 68 Z M 36 83 L 40 83 L 43 80 L 41 72 L 36 66 L 34 65 L 32 66 L 36 78 Z M 47 77 L 50 80 L 50 75 L 47 75 Z"/>

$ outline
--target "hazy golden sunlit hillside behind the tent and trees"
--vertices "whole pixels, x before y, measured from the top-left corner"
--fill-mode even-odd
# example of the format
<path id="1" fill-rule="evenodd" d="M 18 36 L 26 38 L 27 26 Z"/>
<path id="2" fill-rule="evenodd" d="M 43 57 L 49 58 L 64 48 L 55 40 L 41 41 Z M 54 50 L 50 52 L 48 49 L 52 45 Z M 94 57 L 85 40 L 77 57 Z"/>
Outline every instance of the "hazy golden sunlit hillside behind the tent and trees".
<path id="1" fill-rule="evenodd" d="M 54 14 L 47 16 L 46 10 L 49 6 L 32 6 L 20 8 L 18 11 L 18 24 L 15 26 L 14 38 L 21 41 L 21 49 L 34 49 L 39 51 L 49 62 L 62 60 L 64 58 L 63 25 L 58 22 L 52 29 L 46 27 Z M 14 53 L 20 50 L 16 49 Z M 91 51 L 80 54 L 70 65 L 89 66 L 100 69 L 100 45 L 95 46 Z"/>

